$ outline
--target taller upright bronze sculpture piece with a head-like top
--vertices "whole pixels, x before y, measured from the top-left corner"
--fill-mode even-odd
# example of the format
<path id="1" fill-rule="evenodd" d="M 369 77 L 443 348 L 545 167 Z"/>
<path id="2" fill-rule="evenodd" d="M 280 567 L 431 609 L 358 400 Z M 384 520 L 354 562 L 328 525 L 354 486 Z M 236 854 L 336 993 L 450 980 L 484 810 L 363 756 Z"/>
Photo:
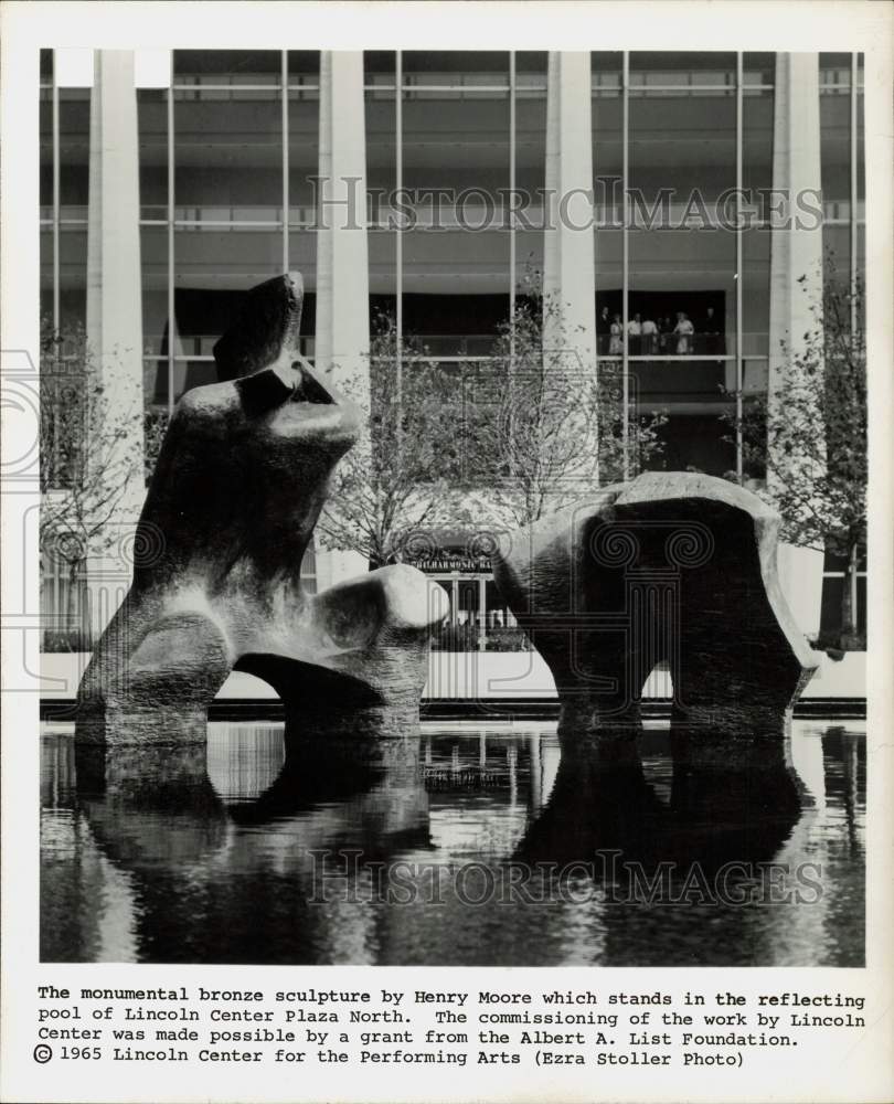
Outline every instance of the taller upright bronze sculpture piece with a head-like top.
<path id="1" fill-rule="evenodd" d="M 234 668 L 274 687 L 291 731 L 418 719 L 446 593 L 402 564 L 318 596 L 301 583 L 361 415 L 301 358 L 300 315 L 300 277 L 254 288 L 214 350 L 223 382 L 178 403 L 137 531 L 153 554 L 84 673 L 78 742 L 203 741 Z"/>

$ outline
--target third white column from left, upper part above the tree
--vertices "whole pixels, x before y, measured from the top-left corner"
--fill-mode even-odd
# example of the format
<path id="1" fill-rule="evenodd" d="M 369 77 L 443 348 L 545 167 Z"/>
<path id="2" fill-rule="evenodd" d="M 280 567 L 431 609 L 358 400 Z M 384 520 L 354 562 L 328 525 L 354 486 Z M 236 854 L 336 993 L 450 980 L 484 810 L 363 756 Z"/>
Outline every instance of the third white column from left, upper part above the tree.
<path id="1" fill-rule="evenodd" d="M 546 195 L 543 346 L 596 365 L 593 131 L 589 54 L 550 53 L 546 89 Z M 575 355 L 576 354 L 576 355 Z"/>

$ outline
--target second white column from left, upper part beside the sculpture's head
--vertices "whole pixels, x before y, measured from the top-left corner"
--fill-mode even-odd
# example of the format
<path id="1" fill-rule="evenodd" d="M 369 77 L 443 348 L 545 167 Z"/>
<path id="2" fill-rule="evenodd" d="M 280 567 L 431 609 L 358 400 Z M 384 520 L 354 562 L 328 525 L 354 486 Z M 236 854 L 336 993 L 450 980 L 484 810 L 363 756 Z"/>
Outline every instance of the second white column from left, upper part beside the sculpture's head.
<path id="1" fill-rule="evenodd" d="M 320 54 L 316 363 L 369 391 L 370 277 L 363 54 Z"/>

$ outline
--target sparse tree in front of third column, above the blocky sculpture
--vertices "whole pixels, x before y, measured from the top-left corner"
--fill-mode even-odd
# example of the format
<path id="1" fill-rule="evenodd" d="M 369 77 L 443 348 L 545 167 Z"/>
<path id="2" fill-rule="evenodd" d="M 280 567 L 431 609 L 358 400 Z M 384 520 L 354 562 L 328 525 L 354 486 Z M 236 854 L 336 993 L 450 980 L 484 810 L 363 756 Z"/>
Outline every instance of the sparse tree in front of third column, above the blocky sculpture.
<path id="1" fill-rule="evenodd" d="M 490 475 L 502 512 L 515 526 L 563 509 L 595 488 L 632 477 L 661 454 L 664 416 L 628 410 L 624 439 L 619 361 L 582 363 L 560 305 L 529 274 L 501 328 L 488 380 L 471 405 L 469 455 Z"/>

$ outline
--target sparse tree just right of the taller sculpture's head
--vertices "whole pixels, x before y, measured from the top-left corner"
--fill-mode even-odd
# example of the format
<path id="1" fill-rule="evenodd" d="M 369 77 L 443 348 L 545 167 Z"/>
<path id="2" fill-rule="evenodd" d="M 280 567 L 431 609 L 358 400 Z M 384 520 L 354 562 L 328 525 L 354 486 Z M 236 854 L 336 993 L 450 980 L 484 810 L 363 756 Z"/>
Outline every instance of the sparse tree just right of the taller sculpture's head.
<path id="1" fill-rule="evenodd" d="M 461 522 L 451 492 L 459 427 L 457 381 L 414 338 L 401 343 L 380 315 L 370 343 L 370 388 L 342 386 L 369 432 L 336 468 L 317 538 L 362 554 L 371 567 L 400 562 L 415 530 Z M 400 372 L 398 372 L 400 364 Z"/>

